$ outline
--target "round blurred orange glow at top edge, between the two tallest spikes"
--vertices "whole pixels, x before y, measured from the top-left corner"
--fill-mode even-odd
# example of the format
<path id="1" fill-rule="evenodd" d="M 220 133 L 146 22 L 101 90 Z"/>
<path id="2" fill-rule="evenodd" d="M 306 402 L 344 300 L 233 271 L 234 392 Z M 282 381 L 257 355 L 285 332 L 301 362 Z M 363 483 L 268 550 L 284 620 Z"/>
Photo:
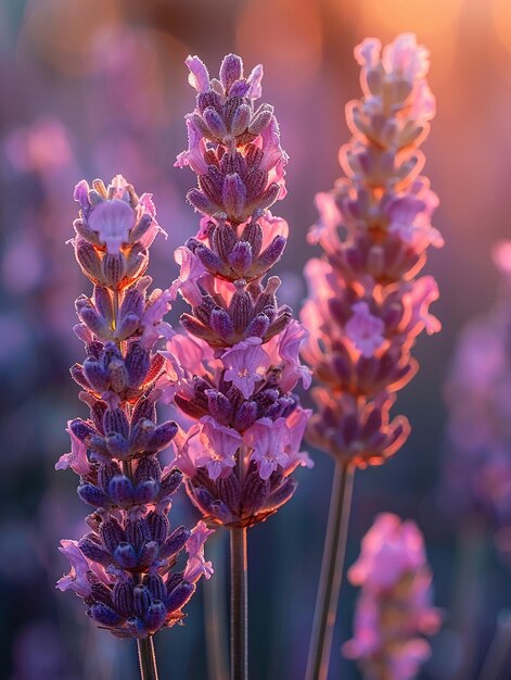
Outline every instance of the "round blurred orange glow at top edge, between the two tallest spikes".
<path id="1" fill-rule="evenodd" d="M 260 39 L 254 39 L 258 26 Z M 322 35 L 316 3 L 252 0 L 238 24 L 237 46 L 247 63 L 266 62 L 288 86 L 312 77 L 321 59 Z"/>

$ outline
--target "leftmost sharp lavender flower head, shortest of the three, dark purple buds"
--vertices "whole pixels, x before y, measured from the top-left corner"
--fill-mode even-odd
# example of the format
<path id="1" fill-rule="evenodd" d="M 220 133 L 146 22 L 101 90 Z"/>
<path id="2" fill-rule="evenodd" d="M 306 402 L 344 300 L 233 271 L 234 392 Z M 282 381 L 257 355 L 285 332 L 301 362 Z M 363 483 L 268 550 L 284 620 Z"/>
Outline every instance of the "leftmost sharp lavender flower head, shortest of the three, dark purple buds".
<path id="1" fill-rule="evenodd" d="M 155 383 L 165 358 L 153 348 L 161 335 L 170 335 L 163 322 L 170 297 L 146 293 L 148 249 L 162 230 L 151 196 L 139 198 L 118 175 L 107 188 L 101 180 L 92 188 L 80 181 L 75 200 L 80 217 L 73 245 L 94 290 L 76 301 L 75 331 L 86 360 L 71 373 L 90 418 L 68 423 L 72 451 L 56 468 L 79 475 L 78 495 L 94 512 L 87 536 L 62 541 L 72 569 L 58 587 L 74 590 L 113 634 L 145 638 L 181 620 L 195 582 L 210 576 L 204 559 L 210 530 L 204 522 L 171 530 L 167 517 L 182 474 L 162 469 L 157 457 L 178 428 L 156 421 L 162 391 Z M 188 561 L 178 570 L 183 549 Z"/>

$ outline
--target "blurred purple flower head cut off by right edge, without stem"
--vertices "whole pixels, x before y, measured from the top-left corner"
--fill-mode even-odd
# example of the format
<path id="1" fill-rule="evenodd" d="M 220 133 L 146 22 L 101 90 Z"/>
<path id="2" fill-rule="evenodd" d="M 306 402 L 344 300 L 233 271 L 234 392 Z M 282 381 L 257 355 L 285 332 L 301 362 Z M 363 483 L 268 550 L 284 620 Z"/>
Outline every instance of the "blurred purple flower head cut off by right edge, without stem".
<path id="1" fill-rule="evenodd" d="M 511 555 L 511 243 L 499 244 L 499 299 L 462 331 L 446 385 L 449 453 L 442 492 L 459 516 L 482 516 Z"/>

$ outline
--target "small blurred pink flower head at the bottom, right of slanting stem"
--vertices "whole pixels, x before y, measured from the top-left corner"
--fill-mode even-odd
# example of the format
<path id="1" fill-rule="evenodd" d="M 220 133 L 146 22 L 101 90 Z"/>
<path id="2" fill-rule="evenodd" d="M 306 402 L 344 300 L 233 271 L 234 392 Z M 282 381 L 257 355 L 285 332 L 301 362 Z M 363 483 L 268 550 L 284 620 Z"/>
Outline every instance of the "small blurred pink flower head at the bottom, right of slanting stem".
<path id="1" fill-rule="evenodd" d="M 440 625 L 431 604 L 432 574 L 417 525 L 389 513 L 379 515 L 348 579 L 361 591 L 355 637 L 343 645 L 344 655 L 359 659 L 368 679 L 411 680 L 431 653 L 421 635 L 435 633 Z"/>

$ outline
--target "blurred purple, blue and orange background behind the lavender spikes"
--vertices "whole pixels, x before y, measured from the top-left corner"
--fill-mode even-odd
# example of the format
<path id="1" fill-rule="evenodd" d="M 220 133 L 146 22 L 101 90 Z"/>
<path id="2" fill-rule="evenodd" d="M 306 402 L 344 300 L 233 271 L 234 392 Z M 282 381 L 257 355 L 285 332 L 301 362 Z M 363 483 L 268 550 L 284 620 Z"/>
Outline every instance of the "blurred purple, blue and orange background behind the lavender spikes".
<path id="1" fill-rule="evenodd" d="M 341 174 L 337 149 L 348 138 L 344 104 L 359 96 L 353 48 L 366 36 L 388 42 L 405 30 L 431 50 L 430 85 L 437 97 L 424 144 L 425 174 L 440 197 L 434 224 L 446 245 L 431 254 L 426 269 L 438 279 L 442 299 L 433 311 L 444 328 L 421 337 L 421 370 L 398 396 L 395 412 L 410 418 L 410 439 L 385 466 L 357 474 L 347 564 L 379 512 L 416 519 L 435 575 L 435 602 L 445 610 L 421 678 L 475 680 L 488 650 L 498 656 L 511 646 L 511 408 L 499 411 L 506 400 L 511 404 L 511 284 L 509 274 L 499 284 L 491 260 L 494 244 L 511 234 L 511 2 L 3 0 L 2 678 L 131 680 L 138 673 L 135 643 L 98 631 L 78 599 L 54 590 L 67 570 L 59 541 L 80 538 L 87 514 L 74 491 L 76 477 L 54 471 L 68 450 L 66 421 L 85 415 L 68 376 L 68 366 L 82 356 L 71 330 L 74 300 L 89 292 L 66 245 L 76 216 L 75 184 L 123 173 L 139 193 L 154 194 L 169 238 L 153 247 L 150 274 L 167 287 L 177 275 L 174 249 L 199 222 L 184 201 L 193 175 L 173 167 L 187 147 L 183 115 L 194 106 L 184 59 L 199 54 L 210 74 L 231 51 L 242 55 L 247 72 L 264 63 L 261 101 L 276 106 L 291 156 L 289 196 L 273 212 L 291 227 L 279 274 L 283 301 L 297 313 L 303 265 L 312 254 L 305 236 L 316 219 L 314 196 Z M 475 317 L 483 317 L 476 328 L 500 332 L 498 350 L 494 330 L 469 332 L 469 339 L 465 331 L 460 350 L 461 329 Z M 484 357 L 491 352 L 500 352 L 501 361 L 497 396 L 490 381 L 484 389 L 477 382 L 488 375 Z M 457 404 L 464 396 L 472 411 L 460 414 Z M 482 410 L 488 431 L 477 430 Z M 498 466 L 486 487 L 474 491 L 474 479 L 494 459 L 496 440 Z M 294 500 L 250 532 L 252 680 L 303 677 L 333 467 L 321 452 L 311 453 L 316 467 L 298 474 Z M 184 493 L 173 518 L 195 518 Z M 221 555 L 221 539 L 213 550 Z M 216 578 L 222 585 L 221 568 Z M 352 634 L 354 596 L 345 584 L 332 679 L 359 678 L 340 651 Z M 200 597 L 188 612 L 184 627 L 157 638 L 164 678 L 206 678 Z M 509 680 L 507 668 L 485 680 Z"/>

